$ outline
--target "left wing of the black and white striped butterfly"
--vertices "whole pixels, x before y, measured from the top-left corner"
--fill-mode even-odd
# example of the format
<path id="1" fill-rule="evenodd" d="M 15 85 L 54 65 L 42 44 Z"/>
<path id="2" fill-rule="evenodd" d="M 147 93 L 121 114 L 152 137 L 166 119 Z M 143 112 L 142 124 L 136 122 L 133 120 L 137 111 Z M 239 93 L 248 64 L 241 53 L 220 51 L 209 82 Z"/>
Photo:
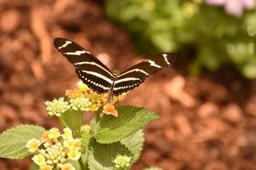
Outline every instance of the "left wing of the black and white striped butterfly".
<path id="1" fill-rule="evenodd" d="M 77 43 L 65 38 L 55 38 L 54 44 L 55 48 L 75 66 L 78 77 L 89 88 L 98 94 L 109 91 L 113 84 L 113 76 L 99 59 Z"/>

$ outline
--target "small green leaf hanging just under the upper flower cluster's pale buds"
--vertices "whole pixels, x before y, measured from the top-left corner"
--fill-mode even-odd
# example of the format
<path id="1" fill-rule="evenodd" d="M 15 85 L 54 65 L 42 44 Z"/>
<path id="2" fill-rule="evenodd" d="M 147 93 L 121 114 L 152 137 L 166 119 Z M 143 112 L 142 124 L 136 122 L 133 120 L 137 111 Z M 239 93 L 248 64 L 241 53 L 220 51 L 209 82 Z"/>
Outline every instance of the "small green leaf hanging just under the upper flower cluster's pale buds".
<path id="1" fill-rule="evenodd" d="M 66 111 L 61 114 L 61 122 L 65 127 L 69 127 L 74 133 L 74 136 L 77 137 L 83 122 L 83 112 Z"/>

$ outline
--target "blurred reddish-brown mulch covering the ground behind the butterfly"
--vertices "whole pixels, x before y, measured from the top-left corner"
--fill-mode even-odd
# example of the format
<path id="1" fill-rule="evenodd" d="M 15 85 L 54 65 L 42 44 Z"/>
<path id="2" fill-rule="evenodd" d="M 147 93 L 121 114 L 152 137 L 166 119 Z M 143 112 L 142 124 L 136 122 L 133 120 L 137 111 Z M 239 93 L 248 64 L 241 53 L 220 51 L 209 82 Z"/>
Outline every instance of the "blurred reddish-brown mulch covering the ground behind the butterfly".
<path id="1" fill-rule="evenodd" d="M 57 127 L 44 101 L 73 88 L 73 66 L 53 47 L 67 37 L 124 69 L 137 53 L 102 6 L 82 0 L 0 0 L 0 130 L 21 123 Z M 111 57 L 109 57 L 111 56 Z M 145 130 L 132 169 L 256 169 L 256 83 L 234 71 L 189 77 L 177 63 L 133 90 L 122 104 L 160 114 Z M 0 170 L 28 169 L 29 160 L 0 160 Z"/>

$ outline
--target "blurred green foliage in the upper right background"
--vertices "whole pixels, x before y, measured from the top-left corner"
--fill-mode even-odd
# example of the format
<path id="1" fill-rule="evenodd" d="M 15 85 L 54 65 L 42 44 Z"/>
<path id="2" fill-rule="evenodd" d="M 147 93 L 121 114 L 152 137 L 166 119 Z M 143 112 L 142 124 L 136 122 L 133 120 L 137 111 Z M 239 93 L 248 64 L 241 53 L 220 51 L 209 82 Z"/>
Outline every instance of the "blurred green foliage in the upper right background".
<path id="1" fill-rule="evenodd" d="M 234 17 L 202 0 L 108 0 L 105 6 L 143 54 L 186 54 L 194 58 L 189 68 L 194 75 L 227 64 L 256 77 L 255 9 Z"/>

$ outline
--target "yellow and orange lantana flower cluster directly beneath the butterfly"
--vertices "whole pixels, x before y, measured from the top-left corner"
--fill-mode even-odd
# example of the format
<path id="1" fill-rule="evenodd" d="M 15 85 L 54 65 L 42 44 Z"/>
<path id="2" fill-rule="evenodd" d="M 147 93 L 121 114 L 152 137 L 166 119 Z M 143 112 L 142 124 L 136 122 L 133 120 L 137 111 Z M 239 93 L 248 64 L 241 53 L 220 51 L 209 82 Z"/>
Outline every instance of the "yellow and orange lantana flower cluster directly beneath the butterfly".
<path id="1" fill-rule="evenodd" d="M 106 114 L 117 115 L 117 111 L 114 110 L 113 105 L 124 99 L 126 94 L 119 96 L 113 96 L 113 99 L 108 102 L 108 94 L 96 94 L 88 88 L 83 82 L 79 82 L 77 88 L 73 90 L 67 90 L 67 98 L 53 99 L 52 101 L 46 101 L 46 110 L 49 116 L 61 116 L 68 110 L 72 111 L 97 111 L 102 105 L 107 105 Z"/>

